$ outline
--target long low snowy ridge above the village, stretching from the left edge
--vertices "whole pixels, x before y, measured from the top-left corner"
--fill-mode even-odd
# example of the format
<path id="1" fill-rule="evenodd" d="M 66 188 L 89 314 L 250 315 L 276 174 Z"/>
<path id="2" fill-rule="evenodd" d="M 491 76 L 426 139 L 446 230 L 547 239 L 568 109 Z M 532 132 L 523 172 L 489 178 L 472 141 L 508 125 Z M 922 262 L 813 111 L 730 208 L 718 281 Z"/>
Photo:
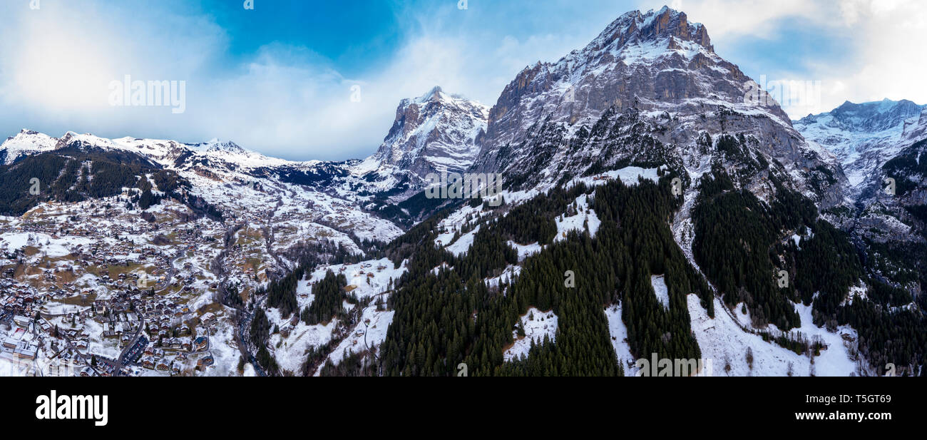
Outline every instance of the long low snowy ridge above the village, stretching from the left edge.
<path id="1" fill-rule="evenodd" d="M 388 239 L 401 233 L 390 220 L 365 212 L 365 197 L 344 194 L 333 179 L 348 174 L 357 161 L 290 161 L 266 157 L 234 142 L 212 139 L 197 144 L 172 140 L 122 137 L 108 139 L 90 133 L 66 132 L 59 138 L 24 130 L 0 145 L 0 157 L 15 167 L 24 157 L 71 149 L 129 153 L 155 167 L 175 172 L 190 182 L 188 193 L 200 197 L 227 215 L 228 220 L 253 219 L 263 207 L 278 208 L 274 215 L 298 214 L 312 227 L 328 228 L 349 248 L 349 233 L 360 239 Z M 92 169 L 93 167 L 91 167 Z M 323 182 L 324 188 L 314 183 Z M 273 217 L 273 216 L 272 216 Z M 340 230 L 340 231 L 337 231 Z"/>

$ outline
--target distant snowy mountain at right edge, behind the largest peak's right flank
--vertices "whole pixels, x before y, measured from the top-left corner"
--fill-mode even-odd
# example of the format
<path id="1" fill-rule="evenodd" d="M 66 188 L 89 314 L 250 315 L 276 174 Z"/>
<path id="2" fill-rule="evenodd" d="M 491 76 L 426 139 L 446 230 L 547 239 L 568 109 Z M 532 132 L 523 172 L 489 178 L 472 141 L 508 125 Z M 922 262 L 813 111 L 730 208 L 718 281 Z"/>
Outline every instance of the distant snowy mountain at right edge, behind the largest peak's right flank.
<path id="1" fill-rule="evenodd" d="M 924 229 L 925 219 L 916 213 L 927 203 L 927 176 L 919 170 L 927 106 L 908 100 L 847 101 L 796 120 L 794 127 L 832 151 L 846 173 L 845 193 L 854 209 L 829 216 L 834 224 L 880 243 L 921 241 L 916 232 Z M 892 190 L 886 179 L 895 180 Z"/>

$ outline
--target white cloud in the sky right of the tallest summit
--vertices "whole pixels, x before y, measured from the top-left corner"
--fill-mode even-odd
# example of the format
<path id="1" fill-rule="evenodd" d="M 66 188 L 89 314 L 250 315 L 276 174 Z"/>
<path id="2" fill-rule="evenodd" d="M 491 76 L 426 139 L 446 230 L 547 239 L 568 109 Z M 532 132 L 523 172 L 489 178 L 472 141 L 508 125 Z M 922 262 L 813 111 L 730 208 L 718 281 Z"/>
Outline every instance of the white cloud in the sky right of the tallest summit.
<path id="1" fill-rule="evenodd" d="M 653 7 L 654 2 L 644 2 Z M 659 2 L 656 2 L 659 3 Z M 821 82 L 820 111 L 844 101 L 909 99 L 927 103 L 927 57 L 920 36 L 927 31 L 927 2 L 922 0 L 676 0 L 690 19 L 705 24 L 713 42 L 724 44 L 745 35 L 772 38 L 781 25 L 802 20 L 829 38 L 849 36 L 849 50 L 838 62 L 815 55 L 804 66 L 780 66 L 783 78 Z M 794 22 L 794 21 L 793 21 Z M 837 36 L 837 35 L 840 36 Z M 811 42 L 814 43 L 814 42 Z M 820 44 L 821 50 L 829 47 Z M 789 50 L 783 47 L 782 50 Z M 834 54 L 820 54 L 832 59 Z M 738 59 L 730 59 L 738 63 Z M 786 108 L 794 118 L 807 107 Z"/>

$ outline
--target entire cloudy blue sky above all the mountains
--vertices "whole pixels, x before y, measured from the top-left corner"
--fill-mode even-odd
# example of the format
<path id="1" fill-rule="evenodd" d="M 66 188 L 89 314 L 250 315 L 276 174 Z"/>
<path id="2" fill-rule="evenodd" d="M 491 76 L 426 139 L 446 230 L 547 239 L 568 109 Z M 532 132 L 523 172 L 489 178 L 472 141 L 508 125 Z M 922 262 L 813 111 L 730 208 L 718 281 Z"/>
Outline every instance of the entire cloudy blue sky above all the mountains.
<path id="1" fill-rule="evenodd" d="M 787 108 L 794 118 L 844 100 L 927 102 L 927 57 L 910 36 L 927 29 L 916 0 L 244 3 L 4 1 L 0 135 L 215 137 L 291 159 L 365 157 L 401 98 L 441 85 L 492 105 L 520 69 L 664 4 L 705 23 L 717 53 L 757 80 L 819 81 L 819 103 Z M 184 112 L 109 105 L 108 85 L 124 75 L 184 82 Z"/>

